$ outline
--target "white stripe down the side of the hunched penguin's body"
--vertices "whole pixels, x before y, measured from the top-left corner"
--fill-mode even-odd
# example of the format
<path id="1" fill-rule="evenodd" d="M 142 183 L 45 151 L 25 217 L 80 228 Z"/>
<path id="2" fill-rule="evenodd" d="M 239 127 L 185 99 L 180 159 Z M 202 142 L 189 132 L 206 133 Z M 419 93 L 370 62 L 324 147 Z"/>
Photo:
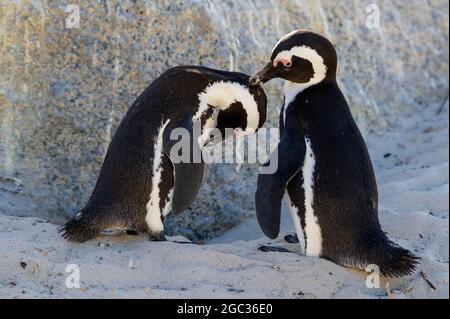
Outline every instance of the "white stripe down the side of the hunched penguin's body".
<path id="1" fill-rule="evenodd" d="M 153 150 L 153 175 L 152 175 L 152 190 L 150 192 L 150 199 L 146 205 L 147 215 L 145 216 L 145 222 L 151 232 L 159 233 L 164 230 L 164 225 L 161 220 L 161 207 L 160 202 L 160 191 L 159 185 L 161 183 L 162 175 L 162 159 L 163 159 L 163 133 L 167 124 L 170 120 L 167 120 L 160 128 L 158 132 L 158 137 L 156 139 L 154 150 Z"/>

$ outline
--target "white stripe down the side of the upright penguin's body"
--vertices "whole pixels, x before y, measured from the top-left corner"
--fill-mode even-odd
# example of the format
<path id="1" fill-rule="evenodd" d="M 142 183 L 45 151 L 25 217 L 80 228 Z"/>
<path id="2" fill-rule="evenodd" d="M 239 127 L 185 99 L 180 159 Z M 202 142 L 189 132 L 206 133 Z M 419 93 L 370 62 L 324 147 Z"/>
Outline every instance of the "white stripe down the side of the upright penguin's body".
<path id="1" fill-rule="evenodd" d="M 314 215 L 314 167 L 316 159 L 311 141 L 305 137 L 306 154 L 303 164 L 303 190 L 305 191 L 306 255 L 319 257 L 322 252 L 322 231 Z"/>

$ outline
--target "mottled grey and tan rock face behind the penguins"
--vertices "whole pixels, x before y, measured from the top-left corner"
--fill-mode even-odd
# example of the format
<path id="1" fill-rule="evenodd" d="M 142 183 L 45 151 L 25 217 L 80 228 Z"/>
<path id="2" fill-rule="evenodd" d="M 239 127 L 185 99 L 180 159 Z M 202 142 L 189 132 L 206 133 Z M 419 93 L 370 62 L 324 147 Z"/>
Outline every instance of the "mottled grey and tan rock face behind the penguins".
<path id="1" fill-rule="evenodd" d="M 79 28 L 68 28 L 66 1 L 1 0 L 1 211 L 64 221 L 88 199 L 122 115 L 155 77 L 180 64 L 253 73 L 297 28 L 336 44 L 340 84 L 363 132 L 442 103 L 448 1 L 376 2 L 83 1 Z M 370 28 L 376 9 L 380 24 Z M 277 125 L 279 89 L 266 87 L 266 127 Z M 192 209 L 168 221 L 172 232 L 207 239 L 251 214 L 255 165 L 206 173 Z M 8 207 L 9 196 L 30 204 Z"/>

